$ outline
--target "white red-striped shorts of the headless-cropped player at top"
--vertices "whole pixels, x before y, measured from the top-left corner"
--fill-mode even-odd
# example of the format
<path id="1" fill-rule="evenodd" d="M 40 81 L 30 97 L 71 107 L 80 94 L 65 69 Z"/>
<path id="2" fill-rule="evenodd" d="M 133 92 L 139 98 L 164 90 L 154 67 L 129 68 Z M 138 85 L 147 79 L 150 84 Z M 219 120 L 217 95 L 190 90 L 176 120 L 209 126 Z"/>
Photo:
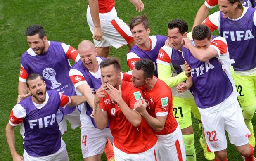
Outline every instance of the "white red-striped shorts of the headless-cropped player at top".
<path id="1" fill-rule="evenodd" d="M 99 14 L 99 16 L 103 37 L 101 41 L 93 40 L 95 47 L 99 48 L 113 46 L 118 49 L 134 41 L 132 33 L 130 31 L 130 27 L 125 22 L 123 22 L 123 20 L 117 17 L 115 7 L 113 7 L 110 12 Z M 86 17 L 87 23 L 90 27 L 90 31 L 93 34 L 94 24 L 92 21 L 89 6 L 87 8 Z"/>

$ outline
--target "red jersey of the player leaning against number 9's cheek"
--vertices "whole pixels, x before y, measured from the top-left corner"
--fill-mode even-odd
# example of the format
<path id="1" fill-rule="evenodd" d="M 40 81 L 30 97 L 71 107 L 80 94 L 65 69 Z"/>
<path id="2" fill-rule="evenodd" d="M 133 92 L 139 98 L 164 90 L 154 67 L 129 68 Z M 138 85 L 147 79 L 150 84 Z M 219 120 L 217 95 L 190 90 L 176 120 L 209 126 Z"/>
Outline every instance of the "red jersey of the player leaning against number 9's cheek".
<path id="1" fill-rule="evenodd" d="M 147 112 L 150 116 L 166 116 L 164 129 L 160 132 L 154 130 L 155 134 L 167 135 L 172 133 L 177 128 L 177 121 L 173 116 L 173 97 L 171 89 L 164 81 L 157 78 L 156 84 L 152 90 L 142 88 L 143 96 L 147 102 Z"/>

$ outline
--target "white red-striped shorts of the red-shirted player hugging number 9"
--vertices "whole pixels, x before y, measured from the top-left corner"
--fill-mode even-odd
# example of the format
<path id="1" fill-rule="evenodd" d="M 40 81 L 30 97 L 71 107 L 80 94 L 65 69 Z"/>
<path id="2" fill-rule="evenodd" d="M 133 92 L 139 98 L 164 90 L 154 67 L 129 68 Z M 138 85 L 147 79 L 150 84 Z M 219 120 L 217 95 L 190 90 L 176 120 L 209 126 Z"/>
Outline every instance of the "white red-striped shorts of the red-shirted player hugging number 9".
<path id="1" fill-rule="evenodd" d="M 176 130 L 168 135 L 157 136 L 158 161 L 186 161 L 186 150 L 183 135 L 178 124 Z"/>

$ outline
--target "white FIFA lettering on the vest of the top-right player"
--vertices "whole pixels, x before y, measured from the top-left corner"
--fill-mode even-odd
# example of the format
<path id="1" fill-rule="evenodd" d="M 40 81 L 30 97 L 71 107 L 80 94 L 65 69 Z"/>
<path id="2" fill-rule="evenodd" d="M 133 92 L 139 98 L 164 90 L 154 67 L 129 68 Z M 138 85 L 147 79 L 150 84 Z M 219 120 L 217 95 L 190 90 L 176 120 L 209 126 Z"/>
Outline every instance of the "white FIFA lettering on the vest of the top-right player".
<path id="1" fill-rule="evenodd" d="M 223 38 L 231 39 L 231 41 L 246 41 L 248 39 L 253 39 L 254 36 L 251 30 L 247 31 L 223 31 Z"/>

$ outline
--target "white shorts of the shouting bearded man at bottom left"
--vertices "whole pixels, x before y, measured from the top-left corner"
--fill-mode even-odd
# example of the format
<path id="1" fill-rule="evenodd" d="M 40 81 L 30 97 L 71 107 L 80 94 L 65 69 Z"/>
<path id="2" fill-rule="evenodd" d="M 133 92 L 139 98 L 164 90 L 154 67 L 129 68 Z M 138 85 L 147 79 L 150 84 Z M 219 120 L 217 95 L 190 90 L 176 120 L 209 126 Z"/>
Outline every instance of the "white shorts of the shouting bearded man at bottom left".
<path id="1" fill-rule="evenodd" d="M 69 161 L 68 152 L 66 151 L 66 144 L 62 140 L 62 138 L 61 138 L 61 144 L 62 145 L 60 149 L 56 153 L 50 154 L 47 156 L 38 156 L 38 157 L 30 156 L 28 155 L 26 150 L 24 150 L 24 153 L 23 153 L 24 161 Z"/>

